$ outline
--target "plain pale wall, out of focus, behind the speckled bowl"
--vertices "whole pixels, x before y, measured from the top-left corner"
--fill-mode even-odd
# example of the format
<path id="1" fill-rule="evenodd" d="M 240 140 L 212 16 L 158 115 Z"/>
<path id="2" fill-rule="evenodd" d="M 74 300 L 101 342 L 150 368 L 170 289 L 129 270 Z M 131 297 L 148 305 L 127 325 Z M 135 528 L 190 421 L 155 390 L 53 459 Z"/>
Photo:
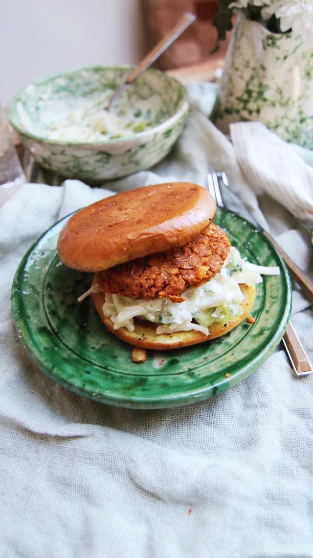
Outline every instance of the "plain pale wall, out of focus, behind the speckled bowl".
<path id="1" fill-rule="evenodd" d="M 0 103 L 58 71 L 138 62 L 143 19 L 141 0 L 0 0 Z"/>

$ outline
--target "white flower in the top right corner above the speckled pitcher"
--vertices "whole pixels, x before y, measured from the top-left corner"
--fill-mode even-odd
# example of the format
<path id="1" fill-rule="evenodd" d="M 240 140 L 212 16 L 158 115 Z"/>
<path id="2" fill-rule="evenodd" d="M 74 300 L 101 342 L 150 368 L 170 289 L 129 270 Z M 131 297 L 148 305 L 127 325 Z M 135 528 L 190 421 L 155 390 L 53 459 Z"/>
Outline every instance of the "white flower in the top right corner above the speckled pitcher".
<path id="1" fill-rule="evenodd" d="M 313 42 L 312 0 L 278 0 L 262 9 L 263 19 L 269 20 L 273 15 L 280 20 L 282 33 L 291 29 L 292 35 Z"/>

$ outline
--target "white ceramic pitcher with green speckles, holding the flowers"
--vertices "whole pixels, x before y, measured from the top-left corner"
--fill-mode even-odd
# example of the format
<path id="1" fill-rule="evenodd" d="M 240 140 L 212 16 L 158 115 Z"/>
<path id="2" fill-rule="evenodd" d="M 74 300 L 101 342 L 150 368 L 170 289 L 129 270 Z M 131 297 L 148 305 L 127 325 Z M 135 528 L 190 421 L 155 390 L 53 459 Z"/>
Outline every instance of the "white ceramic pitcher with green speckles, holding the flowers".
<path id="1" fill-rule="evenodd" d="M 238 17 L 212 119 L 257 120 L 288 142 L 313 148 L 313 48 L 291 33 L 273 34 Z"/>

